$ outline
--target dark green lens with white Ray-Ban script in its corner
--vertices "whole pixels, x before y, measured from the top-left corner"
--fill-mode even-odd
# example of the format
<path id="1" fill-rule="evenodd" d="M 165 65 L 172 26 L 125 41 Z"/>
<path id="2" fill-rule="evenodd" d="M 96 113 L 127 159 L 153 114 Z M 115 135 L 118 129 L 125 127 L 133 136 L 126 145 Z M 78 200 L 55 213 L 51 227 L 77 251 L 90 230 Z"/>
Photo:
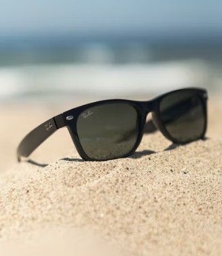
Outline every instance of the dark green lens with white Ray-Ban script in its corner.
<path id="1" fill-rule="evenodd" d="M 137 116 L 128 103 L 104 103 L 82 112 L 77 133 L 86 155 L 107 160 L 130 153 L 138 138 Z"/>

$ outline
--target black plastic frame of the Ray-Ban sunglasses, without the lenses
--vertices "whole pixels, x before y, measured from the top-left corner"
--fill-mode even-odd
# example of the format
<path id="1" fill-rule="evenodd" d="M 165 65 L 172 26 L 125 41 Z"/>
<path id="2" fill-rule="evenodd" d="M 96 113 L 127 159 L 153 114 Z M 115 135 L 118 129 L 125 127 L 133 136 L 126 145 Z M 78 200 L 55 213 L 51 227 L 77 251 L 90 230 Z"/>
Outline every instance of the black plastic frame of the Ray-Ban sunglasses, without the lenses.
<path id="1" fill-rule="evenodd" d="M 176 91 L 170 91 L 168 93 L 164 93 L 158 97 L 155 97 L 154 99 L 151 99 L 149 101 L 132 101 L 127 99 L 107 99 L 103 101 L 97 101 L 94 103 L 88 103 L 84 106 L 80 106 L 77 108 L 73 108 L 72 110 L 68 110 L 62 114 L 59 114 L 58 116 L 54 116 L 53 118 L 49 119 L 45 123 L 39 125 L 37 128 L 35 128 L 33 131 L 31 131 L 26 137 L 22 140 L 20 145 L 18 146 L 17 150 L 17 156 L 18 161 L 20 161 L 21 157 L 29 157 L 31 153 L 41 144 L 43 143 L 47 138 L 50 137 L 57 129 L 60 129 L 62 127 L 67 127 L 69 129 L 69 133 L 71 134 L 71 138 L 73 139 L 73 142 L 75 144 L 75 147 L 77 148 L 77 151 L 79 155 L 84 160 L 89 161 L 95 161 L 95 159 L 91 159 L 86 155 L 83 148 L 81 147 L 81 143 L 79 142 L 79 137 L 77 134 L 77 119 L 79 117 L 79 114 L 82 112 L 88 110 L 88 108 L 92 108 L 94 106 L 100 106 L 107 103 L 128 103 L 131 106 L 134 106 L 138 113 L 138 138 L 136 140 L 136 144 L 134 145 L 134 148 L 132 150 L 124 155 L 123 157 L 128 157 L 129 155 L 132 155 L 132 153 L 135 152 L 136 148 L 138 148 L 138 145 L 141 143 L 141 140 L 143 138 L 143 133 L 145 129 L 145 123 L 147 114 L 150 112 L 152 113 L 153 117 L 153 123 L 155 123 L 155 126 L 162 132 L 162 134 L 168 138 L 168 140 L 171 140 L 174 143 L 177 144 L 185 144 L 189 143 L 191 141 L 186 142 L 179 142 L 178 140 L 175 140 L 172 138 L 170 133 L 166 130 L 166 127 L 164 126 L 164 123 L 162 123 L 161 115 L 160 115 L 160 103 L 164 97 L 170 95 L 171 93 L 175 93 L 177 91 L 191 91 L 193 94 L 199 95 L 203 108 L 204 108 L 204 114 L 205 114 L 205 125 L 202 135 L 199 139 L 204 138 L 204 135 L 206 133 L 207 128 L 207 104 L 206 101 L 208 99 L 207 91 L 206 89 L 200 89 L 200 88 L 185 88 L 185 89 L 179 89 Z M 67 118 L 68 116 L 73 116 L 73 118 Z M 117 157 L 119 158 L 119 157 Z M 96 160 L 96 161 L 104 161 L 104 160 Z"/>

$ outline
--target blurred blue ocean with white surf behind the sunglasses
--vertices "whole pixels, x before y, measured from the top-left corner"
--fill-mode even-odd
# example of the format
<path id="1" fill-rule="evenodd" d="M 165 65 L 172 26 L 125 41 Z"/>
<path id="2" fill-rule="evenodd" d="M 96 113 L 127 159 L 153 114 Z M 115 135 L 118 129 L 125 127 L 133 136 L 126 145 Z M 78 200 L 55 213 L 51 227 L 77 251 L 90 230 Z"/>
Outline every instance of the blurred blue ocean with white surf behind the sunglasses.
<path id="1" fill-rule="evenodd" d="M 0 100 L 141 97 L 186 86 L 222 92 L 220 37 L 0 39 Z"/>

